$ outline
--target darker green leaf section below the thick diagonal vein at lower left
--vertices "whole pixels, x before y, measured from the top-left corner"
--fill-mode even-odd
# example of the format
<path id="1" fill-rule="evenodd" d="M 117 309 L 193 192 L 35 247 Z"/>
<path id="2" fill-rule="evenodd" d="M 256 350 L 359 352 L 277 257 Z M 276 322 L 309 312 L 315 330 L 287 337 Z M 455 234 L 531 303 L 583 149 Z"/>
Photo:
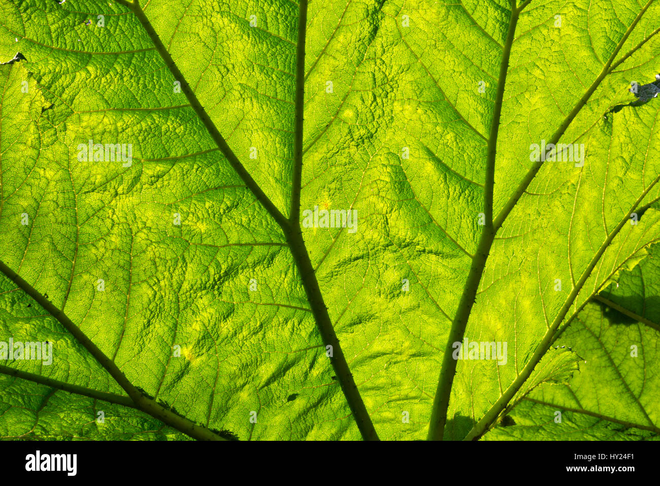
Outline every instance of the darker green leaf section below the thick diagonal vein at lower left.
<path id="1" fill-rule="evenodd" d="M 162 422 L 147 413 L 136 410 L 93 357 L 4 275 L 0 276 L 0 322 L 3 337 L 11 336 L 14 341 L 26 342 L 38 336 L 42 343 L 52 343 L 53 348 L 59 350 L 59 359 L 53 359 L 50 352 L 43 364 L 15 359 L 9 361 L 11 366 L 0 365 L 0 438 L 187 438 L 185 434 L 164 427 Z M 94 388 L 84 384 L 93 384 Z"/>

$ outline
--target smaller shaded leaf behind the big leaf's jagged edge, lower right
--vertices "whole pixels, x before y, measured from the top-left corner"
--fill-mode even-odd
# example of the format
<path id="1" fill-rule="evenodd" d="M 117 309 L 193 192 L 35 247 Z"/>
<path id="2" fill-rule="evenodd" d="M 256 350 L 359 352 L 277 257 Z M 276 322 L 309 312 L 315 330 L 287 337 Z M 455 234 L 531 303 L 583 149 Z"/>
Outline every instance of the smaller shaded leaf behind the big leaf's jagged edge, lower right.
<path id="1" fill-rule="evenodd" d="M 524 396 L 488 440 L 641 440 L 658 437 L 658 246 L 595 296 L 556 341 L 579 372 Z M 560 413 L 560 415 L 558 415 Z M 558 421 L 557 417 L 560 417 Z"/>

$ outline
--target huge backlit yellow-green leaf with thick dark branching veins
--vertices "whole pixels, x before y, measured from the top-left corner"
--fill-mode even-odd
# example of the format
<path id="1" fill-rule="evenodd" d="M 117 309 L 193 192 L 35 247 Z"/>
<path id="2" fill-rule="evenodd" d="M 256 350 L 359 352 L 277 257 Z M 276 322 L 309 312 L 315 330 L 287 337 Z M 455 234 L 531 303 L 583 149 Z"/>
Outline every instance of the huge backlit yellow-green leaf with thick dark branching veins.
<path id="1" fill-rule="evenodd" d="M 660 72 L 659 5 L 2 3 L 0 341 L 53 340 L 52 365 L 1 363 L 42 397 L 7 436 L 462 439 L 543 415 L 531 397 L 598 372 L 579 316 L 660 239 L 660 105 L 614 110 Z M 541 141 L 577 160 L 532 160 Z M 506 363 L 454 359 L 465 339 Z"/>

